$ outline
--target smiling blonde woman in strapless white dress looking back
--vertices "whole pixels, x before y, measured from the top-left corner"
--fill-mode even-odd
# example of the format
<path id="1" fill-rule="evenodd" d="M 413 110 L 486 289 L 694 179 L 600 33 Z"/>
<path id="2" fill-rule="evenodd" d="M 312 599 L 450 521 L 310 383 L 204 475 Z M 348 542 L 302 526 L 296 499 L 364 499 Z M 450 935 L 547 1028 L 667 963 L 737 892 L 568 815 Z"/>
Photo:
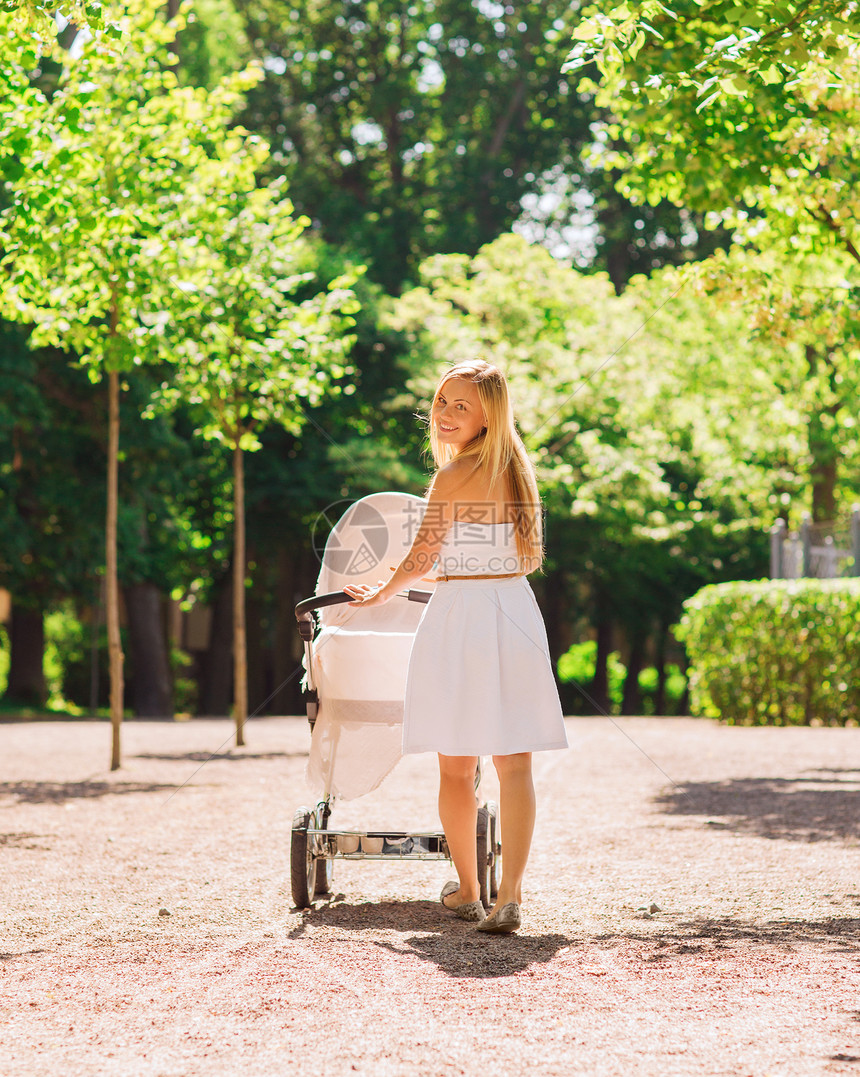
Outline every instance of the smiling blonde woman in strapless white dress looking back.
<path id="1" fill-rule="evenodd" d="M 442 890 L 442 904 L 479 931 L 509 934 L 521 925 L 534 830 L 532 753 L 567 740 L 525 578 L 542 560 L 537 482 L 498 367 L 475 360 L 445 373 L 429 440 L 437 471 L 409 554 L 386 584 L 346 590 L 354 604 L 376 605 L 428 574 L 436 578 L 409 661 L 404 752 L 439 756 L 439 816 L 459 877 Z M 505 848 L 488 915 L 476 854 L 481 755 L 493 756 L 498 773 Z"/>

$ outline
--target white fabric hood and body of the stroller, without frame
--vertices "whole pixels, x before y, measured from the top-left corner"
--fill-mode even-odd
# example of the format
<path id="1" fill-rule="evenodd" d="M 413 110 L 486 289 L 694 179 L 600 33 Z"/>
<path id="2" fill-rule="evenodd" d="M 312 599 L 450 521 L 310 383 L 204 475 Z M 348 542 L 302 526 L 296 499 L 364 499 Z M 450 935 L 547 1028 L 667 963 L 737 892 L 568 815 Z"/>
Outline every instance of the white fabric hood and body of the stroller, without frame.
<path id="1" fill-rule="evenodd" d="M 354 502 L 328 536 L 316 595 L 389 579 L 425 508 L 409 493 Z M 320 705 L 307 771 L 314 792 L 344 800 L 364 796 L 399 760 L 406 671 L 423 611 L 423 603 L 395 598 L 367 610 L 343 603 L 319 612 L 310 655 Z"/>

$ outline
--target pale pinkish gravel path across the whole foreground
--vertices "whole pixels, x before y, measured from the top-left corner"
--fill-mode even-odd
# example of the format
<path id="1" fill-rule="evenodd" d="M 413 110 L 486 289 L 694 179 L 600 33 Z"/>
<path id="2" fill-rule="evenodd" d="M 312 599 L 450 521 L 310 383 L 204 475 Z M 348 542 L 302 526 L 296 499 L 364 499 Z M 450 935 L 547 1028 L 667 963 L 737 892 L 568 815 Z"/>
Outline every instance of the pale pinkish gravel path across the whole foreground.
<path id="1" fill-rule="evenodd" d="M 860 1077 L 860 729 L 568 735 L 501 938 L 438 863 L 292 908 L 304 719 L 128 723 L 113 774 L 105 724 L 0 724 L 0 1075 Z M 334 823 L 435 828 L 435 779 Z"/>

